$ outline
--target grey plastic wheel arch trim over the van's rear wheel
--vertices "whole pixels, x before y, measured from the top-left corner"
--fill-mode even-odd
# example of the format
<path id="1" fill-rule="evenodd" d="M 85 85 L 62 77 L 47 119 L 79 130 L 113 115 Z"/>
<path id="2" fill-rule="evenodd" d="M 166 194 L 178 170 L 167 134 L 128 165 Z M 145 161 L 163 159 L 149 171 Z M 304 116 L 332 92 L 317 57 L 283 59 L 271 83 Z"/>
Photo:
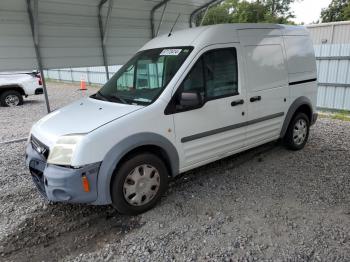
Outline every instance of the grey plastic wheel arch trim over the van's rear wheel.
<path id="1" fill-rule="evenodd" d="M 291 106 L 288 109 L 286 118 L 284 119 L 280 137 L 285 136 L 290 122 L 292 121 L 294 115 L 298 112 L 305 113 L 309 117 L 310 123 L 312 122 L 314 112 L 312 103 L 309 98 L 301 96 L 295 99 L 294 102 L 291 104 Z"/>

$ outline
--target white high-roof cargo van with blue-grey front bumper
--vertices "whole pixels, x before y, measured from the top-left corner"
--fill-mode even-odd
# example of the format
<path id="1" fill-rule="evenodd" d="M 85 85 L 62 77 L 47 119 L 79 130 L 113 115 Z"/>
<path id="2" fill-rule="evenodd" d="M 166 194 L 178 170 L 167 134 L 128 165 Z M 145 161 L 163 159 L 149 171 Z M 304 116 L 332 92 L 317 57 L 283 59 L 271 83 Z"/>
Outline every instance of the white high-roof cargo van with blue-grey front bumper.
<path id="1" fill-rule="evenodd" d="M 148 42 L 96 94 L 38 121 L 26 164 L 51 201 L 138 214 L 180 173 L 279 138 L 303 148 L 315 104 L 304 27 L 177 31 Z"/>

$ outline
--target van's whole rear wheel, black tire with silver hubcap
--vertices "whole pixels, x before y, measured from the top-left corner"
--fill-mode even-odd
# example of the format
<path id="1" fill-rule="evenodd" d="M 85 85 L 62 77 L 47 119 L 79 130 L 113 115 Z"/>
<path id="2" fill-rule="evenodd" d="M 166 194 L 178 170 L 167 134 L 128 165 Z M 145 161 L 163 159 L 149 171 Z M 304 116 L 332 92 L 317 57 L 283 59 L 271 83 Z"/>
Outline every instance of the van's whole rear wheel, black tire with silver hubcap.
<path id="1" fill-rule="evenodd" d="M 310 131 L 310 120 L 304 113 L 297 113 L 290 122 L 284 137 L 285 145 L 291 150 L 304 148 Z"/>

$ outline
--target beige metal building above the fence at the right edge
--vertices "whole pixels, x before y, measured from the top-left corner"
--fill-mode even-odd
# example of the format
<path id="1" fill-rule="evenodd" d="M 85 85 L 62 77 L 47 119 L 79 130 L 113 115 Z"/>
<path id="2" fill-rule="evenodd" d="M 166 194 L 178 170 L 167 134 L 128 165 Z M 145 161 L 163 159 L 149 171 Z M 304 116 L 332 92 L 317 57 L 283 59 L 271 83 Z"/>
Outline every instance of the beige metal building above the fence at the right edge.
<path id="1" fill-rule="evenodd" d="M 334 22 L 306 26 L 313 43 L 346 44 L 350 42 L 350 22 Z"/>

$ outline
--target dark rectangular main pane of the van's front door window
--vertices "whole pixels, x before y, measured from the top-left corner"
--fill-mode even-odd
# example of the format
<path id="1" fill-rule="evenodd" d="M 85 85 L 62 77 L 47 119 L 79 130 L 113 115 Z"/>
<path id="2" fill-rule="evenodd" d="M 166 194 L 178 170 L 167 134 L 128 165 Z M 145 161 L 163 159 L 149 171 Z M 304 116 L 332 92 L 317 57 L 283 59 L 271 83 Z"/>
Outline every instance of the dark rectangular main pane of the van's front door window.
<path id="1" fill-rule="evenodd" d="M 204 54 L 206 99 L 238 94 L 237 53 L 235 48 Z"/>

